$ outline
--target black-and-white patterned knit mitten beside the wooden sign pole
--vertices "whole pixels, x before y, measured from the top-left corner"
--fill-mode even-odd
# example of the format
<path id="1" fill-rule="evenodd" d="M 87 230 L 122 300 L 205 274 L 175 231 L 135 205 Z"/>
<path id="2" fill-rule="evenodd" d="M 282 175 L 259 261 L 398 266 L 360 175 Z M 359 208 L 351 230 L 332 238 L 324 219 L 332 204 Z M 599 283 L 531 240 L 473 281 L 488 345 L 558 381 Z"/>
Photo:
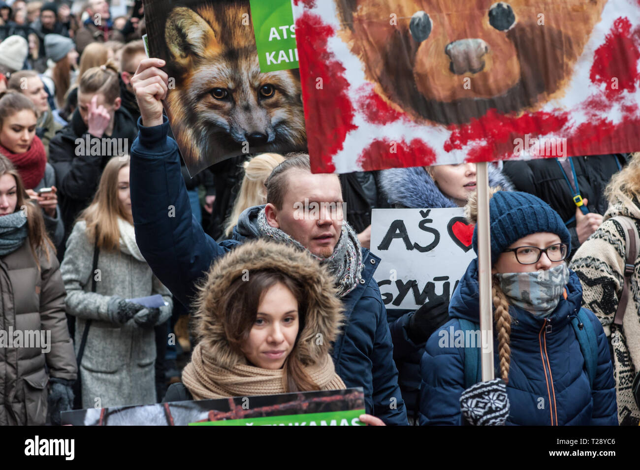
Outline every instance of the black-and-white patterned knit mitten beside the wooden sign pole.
<path id="1" fill-rule="evenodd" d="M 504 426 L 510 407 L 507 384 L 500 378 L 478 382 L 460 396 L 462 416 L 472 426 Z"/>

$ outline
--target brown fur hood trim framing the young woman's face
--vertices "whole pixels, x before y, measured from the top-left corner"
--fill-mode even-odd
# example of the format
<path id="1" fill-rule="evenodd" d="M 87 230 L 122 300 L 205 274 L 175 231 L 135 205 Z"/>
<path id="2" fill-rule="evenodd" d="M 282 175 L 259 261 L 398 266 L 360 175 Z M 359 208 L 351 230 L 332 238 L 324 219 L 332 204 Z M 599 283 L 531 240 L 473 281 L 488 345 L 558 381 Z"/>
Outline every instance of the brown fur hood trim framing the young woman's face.
<path id="1" fill-rule="evenodd" d="M 306 251 L 262 239 L 246 242 L 227 253 L 198 286 L 194 327 L 203 355 L 227 369 L 247 363 L 243 354 L 230 346 L 224 312 L 219 306 L 221 297 L 237 278 L 244 274 L 251 276 L 258 270 L 280 271 L 301 283 L 308 307 L 294 352 L 297 350 L 305 365 L 321 362 L 320 359 L 329 354 L 343 318 L 342 302 L 336 297 L 333 276 Z"/>

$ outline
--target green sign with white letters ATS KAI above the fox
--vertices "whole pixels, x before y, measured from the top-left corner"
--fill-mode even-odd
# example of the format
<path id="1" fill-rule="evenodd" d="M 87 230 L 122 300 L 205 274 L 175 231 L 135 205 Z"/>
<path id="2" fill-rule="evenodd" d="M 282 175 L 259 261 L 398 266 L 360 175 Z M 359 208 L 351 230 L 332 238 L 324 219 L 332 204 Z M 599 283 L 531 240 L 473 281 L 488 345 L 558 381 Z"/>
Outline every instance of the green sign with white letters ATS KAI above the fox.
<path id="1" fill-rule="evenodd" d="M 291 0 L 251 0 L 260 72 L 298 68 Z"/>

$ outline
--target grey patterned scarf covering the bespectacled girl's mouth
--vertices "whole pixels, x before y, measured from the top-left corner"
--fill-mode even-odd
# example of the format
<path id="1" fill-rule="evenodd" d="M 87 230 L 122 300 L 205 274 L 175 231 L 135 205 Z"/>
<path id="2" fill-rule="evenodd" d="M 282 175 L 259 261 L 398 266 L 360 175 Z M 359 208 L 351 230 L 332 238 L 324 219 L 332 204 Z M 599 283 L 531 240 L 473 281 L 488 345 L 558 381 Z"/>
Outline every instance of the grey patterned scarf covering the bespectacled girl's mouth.
<path id="1" fill-rule="evenodd" d="M 545 318 L 560 302 L 564 286 L 569 282 L 569 268 L 562 263 L 546 271 L 504 272 L 494 276 L 511 304 Z"/>

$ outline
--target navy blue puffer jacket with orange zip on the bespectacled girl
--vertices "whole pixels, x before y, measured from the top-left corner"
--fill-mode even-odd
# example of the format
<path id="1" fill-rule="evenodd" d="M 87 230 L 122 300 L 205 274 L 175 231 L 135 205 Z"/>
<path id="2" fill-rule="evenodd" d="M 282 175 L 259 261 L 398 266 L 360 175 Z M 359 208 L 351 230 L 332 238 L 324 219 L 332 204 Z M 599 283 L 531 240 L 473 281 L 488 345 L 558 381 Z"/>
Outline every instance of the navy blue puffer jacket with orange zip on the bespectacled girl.
<path id="1" fill-rule="evenodd" d="M 598 367 L 589 388 L 570 318 L 582 303 L 582 286 L 572 271 L 552 315 L 535 318 L 511 307 L 511 368 L 507 392 L 511 402 L 508 425 L 618 425 L 616 390 L 607 338 L 589 311 L 598 338 Z M 464 387 L 462 347 L 448 339 L 460 330 L 457 318 L 479 323 L 477 258 L 472 261 L 449 304 L 447 324 L 431 335 L 420 361 L 422 373 L 421 425 L 461 425 L 460 395 Z M 589 325 L 586 325 L 589 327 Z M 498 342 L 494 341 L 495 370 L 499 377 Z"/>

